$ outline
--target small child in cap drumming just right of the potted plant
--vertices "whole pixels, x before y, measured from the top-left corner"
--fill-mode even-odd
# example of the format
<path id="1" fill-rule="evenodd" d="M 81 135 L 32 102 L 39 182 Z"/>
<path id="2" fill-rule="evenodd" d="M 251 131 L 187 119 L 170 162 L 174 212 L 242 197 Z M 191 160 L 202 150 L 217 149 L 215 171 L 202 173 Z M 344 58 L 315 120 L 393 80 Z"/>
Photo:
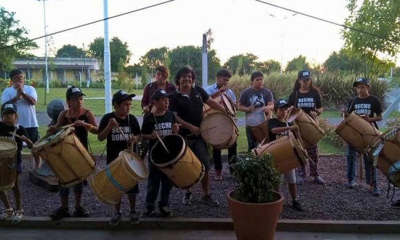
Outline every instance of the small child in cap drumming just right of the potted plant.
<path id="1" fill-rule="evenodd" d="M 292 125 L 285 120 L 286 116 L 288 115 L 288 107 L 290 107 L 290 105 L 283 99 L 275 102 L 275 118 L 268 120 L 268 137 L 270 142 L 288 135 L 289 131 L 294 133 L 299 131 L 299 128 L 296 125 Z M 285 173 L 284 177 L 285 182 L 289 185 L 289 193 L 292 197 L 292 208 L 301 211 L 301 204 L 297 200 L 296 174 L 294 173 L 294 169 L 288 171 L 288 173 Z"/>

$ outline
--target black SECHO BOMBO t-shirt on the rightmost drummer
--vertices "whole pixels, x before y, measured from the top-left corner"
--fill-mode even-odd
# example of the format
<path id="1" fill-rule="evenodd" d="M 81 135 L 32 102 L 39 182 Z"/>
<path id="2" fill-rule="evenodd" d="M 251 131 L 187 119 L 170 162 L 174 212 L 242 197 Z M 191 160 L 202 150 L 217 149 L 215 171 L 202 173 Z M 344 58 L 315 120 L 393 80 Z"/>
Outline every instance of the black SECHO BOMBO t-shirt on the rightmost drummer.
<path id="1" fill-rule="evenodd" d="M 356 113 L 357 115 L 368 115 L 373 118 L 376 115 L 382 113 L 381 102 L 376 96 L 368 96 L 368 98 L 359 98 L 358 96 L 352 98 L 348 103 L 348 113 Z M 378 128 L 377 122 L 374 122 L 375 127 Z"/>

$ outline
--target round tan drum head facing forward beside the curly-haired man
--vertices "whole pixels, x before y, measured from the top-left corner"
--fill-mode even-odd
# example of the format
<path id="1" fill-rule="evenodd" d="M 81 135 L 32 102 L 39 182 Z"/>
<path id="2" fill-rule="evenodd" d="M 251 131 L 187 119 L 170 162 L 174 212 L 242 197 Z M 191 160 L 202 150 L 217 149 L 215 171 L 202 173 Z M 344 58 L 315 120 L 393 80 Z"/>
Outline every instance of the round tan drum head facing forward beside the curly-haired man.
<path id="1" fill-rule="evenodd" d="M 204 118 L 200 129 L 204 140 L 211 145 L 226 144 L 236 130 L 232 118 L 220 112 L 211 113 Z"/>

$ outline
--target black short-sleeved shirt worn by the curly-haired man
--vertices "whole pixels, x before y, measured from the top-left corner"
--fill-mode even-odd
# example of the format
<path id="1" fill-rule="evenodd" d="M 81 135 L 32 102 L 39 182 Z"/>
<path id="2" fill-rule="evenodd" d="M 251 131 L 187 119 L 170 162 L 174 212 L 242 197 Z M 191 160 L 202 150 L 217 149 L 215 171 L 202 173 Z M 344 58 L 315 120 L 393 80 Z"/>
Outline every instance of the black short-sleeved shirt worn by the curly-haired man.
<path id="1" fill-rule="evenodd" d="M 177 90 L 170 96 L 168 110 L 176 113 L 183 121 L 189 122 L 195 127 L 200 127 L 201 121 L 203 120 L 203 103 L 206 103 L 208 98 L 210 98 L 210 96 L 207 94 L 206 90 L 197 85 L 192 87 L 190 96 L 181 94 Z M 186 137 L 188 134 L 190 134 L 189 129 L 179 129 L 179 135 Z M 188 140 L 199 138 L 201 138 L 201 135 L 197 137 L 191 135 L 188 137 Z"/>

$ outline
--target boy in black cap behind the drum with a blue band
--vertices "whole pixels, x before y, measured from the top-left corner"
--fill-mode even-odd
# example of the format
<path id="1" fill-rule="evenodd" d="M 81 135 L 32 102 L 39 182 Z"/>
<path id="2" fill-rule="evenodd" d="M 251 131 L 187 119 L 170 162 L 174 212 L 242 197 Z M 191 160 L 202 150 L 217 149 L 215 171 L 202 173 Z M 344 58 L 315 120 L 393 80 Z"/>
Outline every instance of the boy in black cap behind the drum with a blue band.
<path id="1" fill-rule="evenodd" d="M 129 113 L 132 105 L 132 98 L 135 94 L 127 94 L 123 90 L 117 91 L 112 96 L 114 111 L 107 113 L 101 118 L 99 124 L 99 141 L 107 139 L 107 164 L 117 159 L 119 152 L 130 149 L 141 139 L 141 130 L 137 118 Z M 122 131 L 122 132 L 121 132 Z M 135 145 L 134 145 L 135 149 Z M 130 204 L 130 223 L 139 223 L 139 214 L 135 210 L 136 195 L 139 193 L 139 186 L 136 185 L 128 190 Z M 115 204 L 115 212 L 111 217 L 110 225 L 117 226 L 122 219 L 121 200 Z"/>

